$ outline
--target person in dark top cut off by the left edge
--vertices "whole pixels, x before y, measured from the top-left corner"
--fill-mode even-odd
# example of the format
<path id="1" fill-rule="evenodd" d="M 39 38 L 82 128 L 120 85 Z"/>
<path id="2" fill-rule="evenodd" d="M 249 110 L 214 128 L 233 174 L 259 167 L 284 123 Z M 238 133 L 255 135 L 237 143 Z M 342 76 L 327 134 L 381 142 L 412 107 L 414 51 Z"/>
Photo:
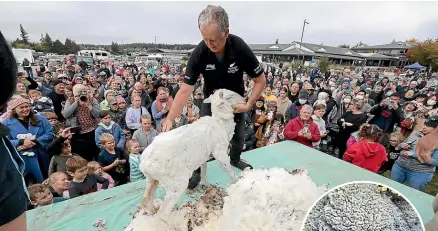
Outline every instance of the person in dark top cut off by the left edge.
<path id="1" fill-rule="evenodd" d="M 0 32 L 0 105 L 14 93 L 17 64 L 6 39 Z M 24 161 L 8 140 L 8 129 L 0 123 L 0 230 L 25 231 L 29 195 L 24 184 Z"/>

